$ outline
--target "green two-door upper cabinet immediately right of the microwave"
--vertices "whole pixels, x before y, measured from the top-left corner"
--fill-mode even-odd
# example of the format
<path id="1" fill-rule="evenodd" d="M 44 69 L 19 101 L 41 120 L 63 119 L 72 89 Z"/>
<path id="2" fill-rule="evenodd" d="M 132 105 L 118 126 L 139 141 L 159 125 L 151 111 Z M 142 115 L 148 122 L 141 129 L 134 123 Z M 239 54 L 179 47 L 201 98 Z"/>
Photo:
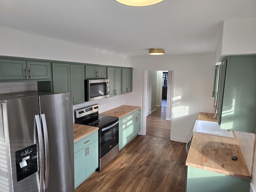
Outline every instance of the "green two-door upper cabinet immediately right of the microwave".
<path id="1" fill-rule="evenodd" d="M 110 96 L 121 94 L 122 68 L 107 67 L 107 74 L 110 84 Z"/>

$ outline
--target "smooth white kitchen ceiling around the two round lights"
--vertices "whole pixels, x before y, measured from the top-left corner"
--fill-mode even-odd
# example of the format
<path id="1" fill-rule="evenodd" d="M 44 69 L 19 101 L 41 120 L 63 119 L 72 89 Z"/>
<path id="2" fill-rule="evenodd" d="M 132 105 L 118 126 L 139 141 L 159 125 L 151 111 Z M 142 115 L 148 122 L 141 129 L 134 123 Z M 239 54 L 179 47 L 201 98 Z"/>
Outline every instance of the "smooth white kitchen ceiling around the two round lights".
<path id="1" fill-rule="evenodd" d="M 0 0 L 0 26 L 128 56 L 216 52 L 223 20 L 256 16 L 256 0 Z M 1 37 L 4 38 L 4 37 Z"/>

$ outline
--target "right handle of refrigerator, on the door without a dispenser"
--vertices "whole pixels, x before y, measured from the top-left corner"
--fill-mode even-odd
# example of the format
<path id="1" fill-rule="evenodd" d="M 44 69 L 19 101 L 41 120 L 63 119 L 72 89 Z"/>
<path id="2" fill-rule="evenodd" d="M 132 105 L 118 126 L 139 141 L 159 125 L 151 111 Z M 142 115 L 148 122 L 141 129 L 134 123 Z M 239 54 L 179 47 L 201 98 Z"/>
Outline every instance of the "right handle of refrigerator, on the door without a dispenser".
<path id="1" fill-rule="evenodd" d="M 46 125 L 45 114 L 41 114 L 43 131 L 44 131 L 44 148 L 45 148 L 45 180 L 44 180 L 44 190 L 48 188 L 49 181 L 49 140 L 48 131 Z"/>

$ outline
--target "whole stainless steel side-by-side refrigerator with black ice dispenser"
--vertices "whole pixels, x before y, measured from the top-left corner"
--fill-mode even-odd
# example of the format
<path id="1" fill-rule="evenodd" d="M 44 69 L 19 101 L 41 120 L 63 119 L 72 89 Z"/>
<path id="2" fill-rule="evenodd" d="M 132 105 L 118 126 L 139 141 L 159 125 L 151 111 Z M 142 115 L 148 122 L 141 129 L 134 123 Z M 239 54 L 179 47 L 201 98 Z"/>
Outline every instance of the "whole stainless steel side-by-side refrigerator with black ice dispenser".
<path id="1" fill-rule="evenodd" d="M 0 94 L 0 192 L 74 192 L 72 93 Z"/>

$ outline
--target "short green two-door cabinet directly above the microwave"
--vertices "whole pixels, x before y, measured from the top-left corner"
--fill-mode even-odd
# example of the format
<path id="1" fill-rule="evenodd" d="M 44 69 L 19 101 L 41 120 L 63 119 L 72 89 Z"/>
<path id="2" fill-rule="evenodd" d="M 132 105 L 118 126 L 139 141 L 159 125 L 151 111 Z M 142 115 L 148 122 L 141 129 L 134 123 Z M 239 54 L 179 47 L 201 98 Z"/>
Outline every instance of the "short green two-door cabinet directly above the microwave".
<path id="1" fill-rule="evenodd" d="M 107 67 L 97 65 L 85 65 L 85 78 L 107 78 Z"/>

